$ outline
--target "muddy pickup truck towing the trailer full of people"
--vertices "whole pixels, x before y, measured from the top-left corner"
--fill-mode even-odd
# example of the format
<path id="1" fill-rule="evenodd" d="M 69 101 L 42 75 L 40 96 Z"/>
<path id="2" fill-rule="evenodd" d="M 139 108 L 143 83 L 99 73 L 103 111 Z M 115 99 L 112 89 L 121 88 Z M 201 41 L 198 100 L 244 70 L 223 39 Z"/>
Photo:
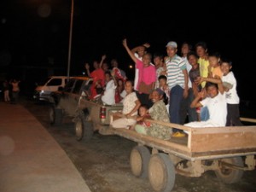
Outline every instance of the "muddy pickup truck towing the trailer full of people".
<path id="1" fill-rule="evenodd" d="M 102 135 L 108 132 L 110 113 L 121 111 L 122 103 L 104 105 L 102 102 L 90 100 L 90 86 L 93 79 L 88 77 L 73 77 L 63 89 L 52 92 L 49 108 L 51 125 L 61 125 L 65 118 L 72 118 L 76 139 L 89 140 L 94 131 Z"/>

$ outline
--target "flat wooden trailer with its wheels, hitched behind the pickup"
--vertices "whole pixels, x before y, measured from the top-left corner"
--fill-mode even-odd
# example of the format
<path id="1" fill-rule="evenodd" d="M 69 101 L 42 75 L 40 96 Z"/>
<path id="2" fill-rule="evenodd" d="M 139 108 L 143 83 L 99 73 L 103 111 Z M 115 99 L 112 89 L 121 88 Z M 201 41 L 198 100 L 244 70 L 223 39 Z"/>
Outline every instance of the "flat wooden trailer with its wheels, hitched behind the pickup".
<path id="1" fill-rule="evenodd" d="M 256 119 L 241 120 L 256 123 Z M 256 125 L 192 128 L 146 121 L 188 133 L 187 137 L 171 137 L 165 141 L 110 127 L 114 135 L 137 143 L 130 154 L 131 172 L 136 177 L 148 177 L 154 191 L 172 191 L 176 173 L 201 177 L 211 170 L 224 183 L 236 183 L 244 171 L 255 169 Z"/>

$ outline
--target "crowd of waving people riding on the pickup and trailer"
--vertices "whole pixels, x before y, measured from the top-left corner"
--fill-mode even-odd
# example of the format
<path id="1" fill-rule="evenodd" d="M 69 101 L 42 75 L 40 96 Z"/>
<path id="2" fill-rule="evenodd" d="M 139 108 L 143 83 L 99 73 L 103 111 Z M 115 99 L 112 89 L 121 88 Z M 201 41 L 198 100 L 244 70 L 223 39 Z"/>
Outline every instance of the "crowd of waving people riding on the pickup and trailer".
<path id="1" fill-rule="evenodd" d="M 174 41 L 166 44 L 166 56 L 151 55 L 150 44 L 131 49 L 127 40 L 123 46 L 135 63 L 135 78 L 127 79 L 116 59 L 110 70 L 106 55 L 94 61 L 94 70 L 84 65 L 93 79 L 90 99 L 100 96 L 106 105 L 123 102 L 121 113 L 115 113 L 113 128 L 125 128 L 160 139 L 185 137 L 186 132 L 144 119 L 171 122 L 191 127 L 242 125 L 239 96 L 232 62 L 218 52 L 208 52 L 205 42 L 194 49 L 189 43 L 178 46 Z M 99 91 L 98 91 L 99 90 Z"/>

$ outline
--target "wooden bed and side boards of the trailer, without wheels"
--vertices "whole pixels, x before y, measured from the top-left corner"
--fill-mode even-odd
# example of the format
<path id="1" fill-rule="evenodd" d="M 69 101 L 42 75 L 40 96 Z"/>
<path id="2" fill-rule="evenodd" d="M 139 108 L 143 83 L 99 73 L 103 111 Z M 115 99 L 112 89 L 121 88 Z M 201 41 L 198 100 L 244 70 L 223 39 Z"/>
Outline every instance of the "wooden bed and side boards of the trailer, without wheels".
<path id="1" fill-rule="evenodd" d="M 256 126 L 190 128 L 172 123 L 148 121 L 188 131 L 188 136 L 172 137 L 164 141 L 127 129 L 113 129 L 113 133 L 186 160 L 209 160 L 256 154 Z"/>

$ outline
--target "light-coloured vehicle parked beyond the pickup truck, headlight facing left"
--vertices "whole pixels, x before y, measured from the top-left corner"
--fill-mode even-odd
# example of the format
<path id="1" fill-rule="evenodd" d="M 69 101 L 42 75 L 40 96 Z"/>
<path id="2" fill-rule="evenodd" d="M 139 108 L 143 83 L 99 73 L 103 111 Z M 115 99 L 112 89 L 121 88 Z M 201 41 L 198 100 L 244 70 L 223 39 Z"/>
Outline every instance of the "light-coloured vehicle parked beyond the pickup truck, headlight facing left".
<path id="1" fill-rule="evenodd" d="M 64 88 L 65 84 L 67 84 L 67 76 L 50 76 L 49 78 L 45 79 L 43 83 L 38 84 L 34 91 L 33 99 L 37 102 L 49 102 L 50 94 L 55 90 Z"/>

